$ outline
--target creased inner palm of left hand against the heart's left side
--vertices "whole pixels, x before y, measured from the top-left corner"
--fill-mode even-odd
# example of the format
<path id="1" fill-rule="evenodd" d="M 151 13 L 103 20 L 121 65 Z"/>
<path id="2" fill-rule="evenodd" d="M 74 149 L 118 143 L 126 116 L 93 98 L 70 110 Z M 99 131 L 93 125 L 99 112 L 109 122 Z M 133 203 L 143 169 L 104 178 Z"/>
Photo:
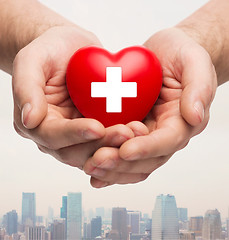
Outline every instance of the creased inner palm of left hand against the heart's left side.
<path id="1" fill-rule="evenodd" d="M 78 48 L 90 44 L 99 45 L 100 43 L 97 39 L 88 38 L 87 33 L 85 34 L 83 32 L 82 34 L 78 31 L 69 31 L 68 28 L 62 29 L 61 32 L 56 32 L 53 41 L 51 41 L 53 37 L 52 32 L 46 33 L 46 35 L 47 36 L 42 36 L 42 38 L 48 38 L 49 45 L 46 46 L 46 52 L 44 56 L 41 57 L 47 66 L 47 68 L 44 69 L 44 74 L 48 76 L 44 93 L 49 108 L 52 110 L 51 113 L 68 119 L 82 117 L 74 107 L 68 94 L 65 81 L 66 68 L 71 55 Z M 50 112 L 48 112 L 48 114 L 49 113 Z"/>

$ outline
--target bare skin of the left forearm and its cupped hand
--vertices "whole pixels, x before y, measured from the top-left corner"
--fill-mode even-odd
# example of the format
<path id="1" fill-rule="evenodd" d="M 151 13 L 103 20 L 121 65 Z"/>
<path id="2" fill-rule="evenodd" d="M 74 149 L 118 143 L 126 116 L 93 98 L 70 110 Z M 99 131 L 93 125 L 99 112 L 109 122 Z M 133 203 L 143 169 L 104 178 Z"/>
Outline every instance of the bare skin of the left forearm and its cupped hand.
<path id="1" fill-rule="evenodd" d="M 105 129 L 94 119 L 82 118 L 73 106 L 65 84 L 66 67 L 77 49 L 101 46 L 94 34 L 38 1 L 1 0 L 0 6 L 0 36 L 4 36 L 0 67 L 13 77 L 14 127 L 22 137 L 82 169 L 100 147 L 119 147 L 135 136 L 135 130 L 145 134 L 143 124 L 133 130 L 124 125 Z M 142 180 L 142 174 L 130 175 Z"/>

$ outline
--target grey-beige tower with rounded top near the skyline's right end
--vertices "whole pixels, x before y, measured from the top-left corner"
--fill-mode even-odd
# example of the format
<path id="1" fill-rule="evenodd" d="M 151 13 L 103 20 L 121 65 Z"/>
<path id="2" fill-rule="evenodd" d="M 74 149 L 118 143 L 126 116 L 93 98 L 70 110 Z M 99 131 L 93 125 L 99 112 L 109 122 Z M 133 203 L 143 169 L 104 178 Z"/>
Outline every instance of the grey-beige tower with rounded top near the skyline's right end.
<path id="1" fill-rule="evenodd" d="M 221 239 L 221 217 L 220 212 L 215 210 L 208 210 L 204 216 L 202 238 L 203 240 Z"/>

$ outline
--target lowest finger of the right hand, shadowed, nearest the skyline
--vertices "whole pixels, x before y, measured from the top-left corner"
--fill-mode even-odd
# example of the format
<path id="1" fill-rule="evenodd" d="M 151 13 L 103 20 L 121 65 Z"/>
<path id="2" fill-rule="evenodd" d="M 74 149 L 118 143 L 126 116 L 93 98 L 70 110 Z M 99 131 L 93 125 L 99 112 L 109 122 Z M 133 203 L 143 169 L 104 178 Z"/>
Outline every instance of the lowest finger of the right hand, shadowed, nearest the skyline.
<path id="1" fill-rule="evenodd" d="M 95 177 L 91 177 L 91 185 L 94 188 L 103 188 L 113 184 L 133 184 L 146 180 L 148 174 L 122 174 L 109 172 L 109 181 L 103 181 Z"/>

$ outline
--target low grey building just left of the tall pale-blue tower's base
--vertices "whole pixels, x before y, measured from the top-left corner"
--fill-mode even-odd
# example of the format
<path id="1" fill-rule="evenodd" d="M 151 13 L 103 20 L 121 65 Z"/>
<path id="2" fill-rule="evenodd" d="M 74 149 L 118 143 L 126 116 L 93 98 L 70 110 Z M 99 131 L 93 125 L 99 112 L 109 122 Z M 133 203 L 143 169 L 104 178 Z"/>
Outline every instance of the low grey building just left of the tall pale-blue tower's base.
<path id="1" fill-rule="evenodd" d="M 65 221 L 54 220 L 50 226 L 51 240 L 66 240 Z"/>

